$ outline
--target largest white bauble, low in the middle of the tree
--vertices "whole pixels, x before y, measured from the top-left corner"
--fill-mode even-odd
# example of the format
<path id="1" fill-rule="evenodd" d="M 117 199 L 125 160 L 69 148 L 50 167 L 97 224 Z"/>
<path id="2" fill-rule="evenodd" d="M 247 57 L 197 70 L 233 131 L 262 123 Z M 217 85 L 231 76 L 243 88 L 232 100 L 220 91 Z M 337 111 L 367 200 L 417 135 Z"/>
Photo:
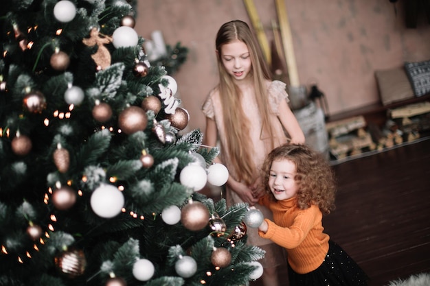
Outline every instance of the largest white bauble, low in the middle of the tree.
<path id="1" fill-rule="evenodd" d="M 115 217 L 123 206 L 124 195 L 111 184 L 101 184 L 91 195 L 91 208 L 99 217 Z"/>

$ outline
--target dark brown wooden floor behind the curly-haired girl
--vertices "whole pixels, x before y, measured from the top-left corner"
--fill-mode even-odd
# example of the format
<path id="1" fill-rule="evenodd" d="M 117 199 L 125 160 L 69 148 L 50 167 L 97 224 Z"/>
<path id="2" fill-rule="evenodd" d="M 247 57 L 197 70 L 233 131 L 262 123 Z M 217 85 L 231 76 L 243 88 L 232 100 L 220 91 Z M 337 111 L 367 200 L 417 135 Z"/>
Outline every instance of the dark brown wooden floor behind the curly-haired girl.
<path id="1" fill-rule="evenodd" d="M 333 168 L 337 208 L 323 224 L 370 276 L 370 286 L 430 272 L 430 139 Z M 288 286 L 286 267 L 279 272 Z"/>

